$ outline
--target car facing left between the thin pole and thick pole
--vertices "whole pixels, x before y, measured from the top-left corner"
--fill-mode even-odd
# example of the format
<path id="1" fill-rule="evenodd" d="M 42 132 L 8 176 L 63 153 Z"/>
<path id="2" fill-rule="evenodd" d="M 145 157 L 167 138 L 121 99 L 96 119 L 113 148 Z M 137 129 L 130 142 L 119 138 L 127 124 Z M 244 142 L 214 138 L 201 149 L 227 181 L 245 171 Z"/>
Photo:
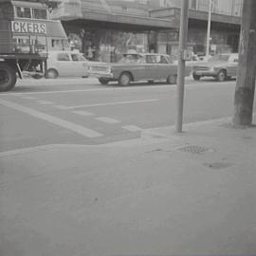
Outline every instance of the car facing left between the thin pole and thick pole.
<path id="1" fill-rule="evenodd" d="M 208 62 L 192 66 L 192 77 L 200 80 L 201 77 L 213 77 L 223 82 L 231 77 L 236 77 L 238 66 L 238 53 L 222 53 L 215 55 Z"/>

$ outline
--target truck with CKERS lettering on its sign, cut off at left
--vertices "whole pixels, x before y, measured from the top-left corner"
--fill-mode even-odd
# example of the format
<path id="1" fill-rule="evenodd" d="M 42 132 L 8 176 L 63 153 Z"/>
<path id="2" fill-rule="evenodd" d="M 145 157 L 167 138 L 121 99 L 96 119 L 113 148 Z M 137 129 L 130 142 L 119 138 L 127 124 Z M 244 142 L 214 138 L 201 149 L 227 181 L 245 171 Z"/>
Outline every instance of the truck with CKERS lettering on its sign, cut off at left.
<path id="1" fill-rule="evenodd" d="M 17 78 L 25 75 L 44 77 L 49 46 L 67 42 L 61 22 L 48 18 L 53 4 L 50 0 L 0 0 L 0 92 L 11 90 Z"/>

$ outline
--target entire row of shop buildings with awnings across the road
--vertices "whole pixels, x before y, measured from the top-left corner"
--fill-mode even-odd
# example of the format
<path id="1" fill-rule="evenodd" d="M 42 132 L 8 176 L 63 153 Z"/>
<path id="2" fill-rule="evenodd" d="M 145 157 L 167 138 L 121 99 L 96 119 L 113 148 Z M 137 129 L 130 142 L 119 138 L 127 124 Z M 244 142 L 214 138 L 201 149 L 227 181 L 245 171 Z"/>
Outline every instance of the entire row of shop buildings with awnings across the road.
<path id="1" fill-rule="evenodd" d="M 237 51 L 242 0 L 212 0 L 211 52 Z M 177 54 L 179 0 L 63 0 L 51 15 L 62 20 L 72 47 L 85 57 L 116 62 L 129 50 Z M 207 0 L 190 1 L 188 46 L 204 54 Z"/>

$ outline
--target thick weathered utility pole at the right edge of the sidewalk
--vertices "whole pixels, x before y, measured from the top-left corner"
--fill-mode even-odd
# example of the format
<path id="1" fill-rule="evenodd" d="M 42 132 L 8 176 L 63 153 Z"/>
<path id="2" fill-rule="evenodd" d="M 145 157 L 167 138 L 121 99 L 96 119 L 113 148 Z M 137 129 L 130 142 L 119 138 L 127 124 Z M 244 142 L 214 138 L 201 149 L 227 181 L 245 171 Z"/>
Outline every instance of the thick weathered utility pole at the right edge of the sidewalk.
<path id="1" fill-rule="evenodd" d="M 239 64 L 234 99 L 234 125 L 251 125 L 256 71 L 256 1 L 244 0 Z"/>

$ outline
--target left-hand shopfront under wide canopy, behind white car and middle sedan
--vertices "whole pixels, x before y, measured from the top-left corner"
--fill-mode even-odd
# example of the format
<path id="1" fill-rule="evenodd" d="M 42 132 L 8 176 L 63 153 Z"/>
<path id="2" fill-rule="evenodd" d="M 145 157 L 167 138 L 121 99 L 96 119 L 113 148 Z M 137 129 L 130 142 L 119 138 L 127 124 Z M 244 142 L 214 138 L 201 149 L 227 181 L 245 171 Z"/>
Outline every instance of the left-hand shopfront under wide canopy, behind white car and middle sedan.
<path id="1" fill-rule="evenodd" d="M 125 13 L 125 8 L 115 12 L 118 7 L 106 9 L 98 2 L 96 9 L 92 2 L 75 1 L 71 5 L 66 0 L 54 11 L 55 18 L 62 21 L 70 46 L 89 60 L 117 62 L 120 54 L 127 51 L 156 52 L 158 32 L 175 29 L 169 20 L 151 18 L 148 13 Z"/>

